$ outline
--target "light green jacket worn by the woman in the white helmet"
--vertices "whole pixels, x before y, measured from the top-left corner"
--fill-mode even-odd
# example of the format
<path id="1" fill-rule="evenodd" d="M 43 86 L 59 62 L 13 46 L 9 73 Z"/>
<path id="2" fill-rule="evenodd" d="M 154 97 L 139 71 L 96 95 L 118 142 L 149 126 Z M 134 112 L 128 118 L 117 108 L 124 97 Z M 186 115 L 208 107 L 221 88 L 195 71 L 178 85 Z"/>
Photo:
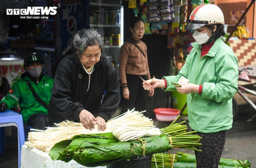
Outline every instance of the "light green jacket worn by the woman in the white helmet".
<path id="1" fill-rule="evenodd" d="M 178 82 L 181 76 L 203 85 L 202 94 L 187 95 L 189 126 L 203 133 L 228 130 L 233 123 L 232 97 L 238 90 L 237 56 L 220 38 L 203 57 L 202 45 L 194 42 L 192 46 L 179 74 L 163 77 L 167 81 L 165 91 L 177 91 L 171 82 Z"/>

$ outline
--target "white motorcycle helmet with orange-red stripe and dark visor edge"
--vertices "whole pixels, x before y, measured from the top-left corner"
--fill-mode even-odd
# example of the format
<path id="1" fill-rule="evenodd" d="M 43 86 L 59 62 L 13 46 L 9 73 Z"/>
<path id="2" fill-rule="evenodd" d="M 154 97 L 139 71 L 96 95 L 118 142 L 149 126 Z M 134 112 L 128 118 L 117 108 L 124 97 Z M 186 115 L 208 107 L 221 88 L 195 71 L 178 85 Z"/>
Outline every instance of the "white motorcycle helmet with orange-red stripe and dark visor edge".
<path id="1" fill-rule="evenodd" d="M 185 29 L 196 30 L 202 26 L 214 24 L 225 24 L 222 10 L 214 4 L 203 4 L 192 11 Z"/>

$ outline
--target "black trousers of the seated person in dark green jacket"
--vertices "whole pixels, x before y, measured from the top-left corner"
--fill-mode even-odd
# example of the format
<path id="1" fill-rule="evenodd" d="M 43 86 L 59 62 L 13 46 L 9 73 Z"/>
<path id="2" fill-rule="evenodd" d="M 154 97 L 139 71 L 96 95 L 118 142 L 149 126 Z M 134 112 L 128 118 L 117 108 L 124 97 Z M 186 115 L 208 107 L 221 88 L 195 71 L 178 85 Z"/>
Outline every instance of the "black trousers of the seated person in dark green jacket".
<path id="1" fill-rule="evenodd" d="M 45 130 L 49 126 L 49 119 L 47 114 L 36 113 L 30 116 L 27 124 L 34 127 L 34 129 Z"/>

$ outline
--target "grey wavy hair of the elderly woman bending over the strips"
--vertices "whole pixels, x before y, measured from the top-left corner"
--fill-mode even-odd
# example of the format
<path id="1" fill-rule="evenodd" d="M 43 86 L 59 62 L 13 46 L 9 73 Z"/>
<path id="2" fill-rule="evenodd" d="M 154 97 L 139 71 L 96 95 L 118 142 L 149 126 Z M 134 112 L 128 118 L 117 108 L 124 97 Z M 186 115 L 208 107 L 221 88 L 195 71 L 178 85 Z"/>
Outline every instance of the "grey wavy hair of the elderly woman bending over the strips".
<path id="1" fill-rule="evenodd" d="M 93 45 L 98 45 L 101 52 L 104 53 L 104 42 L 101 34 L 94 29 L 82 29 L 73 36 L 72 42 L 62 53 L 62 56 L 70 55 L 68 56 L 69 58 L 72 58 L 76 54 L 81 56 L 88 46 Z"/>

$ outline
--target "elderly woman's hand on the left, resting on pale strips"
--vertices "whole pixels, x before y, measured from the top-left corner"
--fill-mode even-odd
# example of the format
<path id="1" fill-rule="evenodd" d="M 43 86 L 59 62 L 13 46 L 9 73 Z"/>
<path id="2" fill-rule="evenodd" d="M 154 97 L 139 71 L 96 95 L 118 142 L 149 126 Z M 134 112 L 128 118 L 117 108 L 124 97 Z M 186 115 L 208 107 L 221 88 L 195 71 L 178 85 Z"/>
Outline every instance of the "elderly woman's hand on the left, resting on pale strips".
<path id="1" fill-rule="evenodd" d="M 92 131 L 92 129 L 95 128 L 95 124 L 97 123 L 95 121 L 97 121 L 97 119 L 92 115 L 92 113 L 87 110 L 82 110 L 78 117 L 85 129 Z"/>

